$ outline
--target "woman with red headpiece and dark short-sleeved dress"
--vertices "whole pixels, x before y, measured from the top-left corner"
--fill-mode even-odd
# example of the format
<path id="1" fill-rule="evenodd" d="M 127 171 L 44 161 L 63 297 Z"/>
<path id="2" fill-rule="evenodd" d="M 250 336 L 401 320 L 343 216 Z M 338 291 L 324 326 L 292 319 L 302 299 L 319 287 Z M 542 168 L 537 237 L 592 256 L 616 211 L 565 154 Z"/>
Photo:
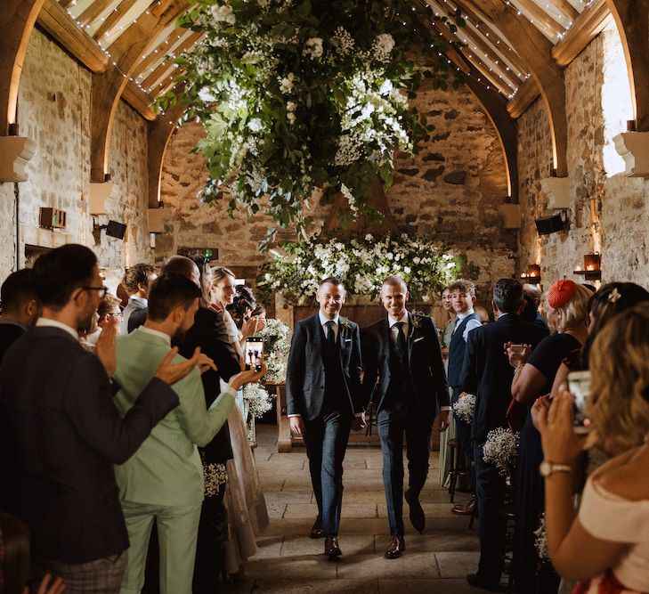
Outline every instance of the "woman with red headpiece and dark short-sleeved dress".
<path id="1" fill-rule="evenodd" d="M 523 411 L 524 420 L 515 470 L 514 583 L 520 594 L 556 592 L 559 578 L 551 566 L 539 571 L 534 531 L 543 511 L 543 483 L 539 463 L 543 458 L 540 435 L 531 419 L 531 407 L 539 396 L 549 394 L 564 358 L 583 345 L 588 336 L 588 299 L 592 292 L 573 281 L 557 281 L 548 290 L 548 321 L 556 334 L 544 338 L 531 352 L 507 344 L 509 362 L 515 367 L 510 411 Z M 517 427 L 521 428 L 521 427 Z"/>

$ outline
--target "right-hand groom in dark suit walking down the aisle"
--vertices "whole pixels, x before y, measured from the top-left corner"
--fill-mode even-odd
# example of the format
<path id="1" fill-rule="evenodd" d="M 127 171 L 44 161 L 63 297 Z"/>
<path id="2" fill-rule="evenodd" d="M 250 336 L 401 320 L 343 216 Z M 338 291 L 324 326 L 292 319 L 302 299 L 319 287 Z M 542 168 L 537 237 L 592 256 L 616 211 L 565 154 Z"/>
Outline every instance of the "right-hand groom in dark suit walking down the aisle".
<path id="1" fill-rule="evenodd" d="M 378 436 L 383 451 L 383 482 L 392 541 L 385 557 L 400 557 L 403 538 L 403 496 L 410 506 L 410 522 L 422 532 L 426 526 L 419 493 L 428 475 L 430 435 L 437 411 L 441 430 L 449 426 L 449 390 L 442 349 L 434 321 L 410 313 L 405 281 L 388 276 L 381 287 L 387 317 L 371 325 L 363 339 L 364 392 L 377 404 Z M 378 379 L 378 381 L 377 381 Z M 403 493 L 403 433 L 408 443 L 409 489 Z"/>

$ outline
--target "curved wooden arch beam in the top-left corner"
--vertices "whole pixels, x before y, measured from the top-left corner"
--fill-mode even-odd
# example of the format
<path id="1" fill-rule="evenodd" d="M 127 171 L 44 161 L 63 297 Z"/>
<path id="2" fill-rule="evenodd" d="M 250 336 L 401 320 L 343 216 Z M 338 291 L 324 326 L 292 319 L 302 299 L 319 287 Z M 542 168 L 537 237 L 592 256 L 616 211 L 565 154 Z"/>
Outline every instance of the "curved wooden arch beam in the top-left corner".
<path id="1" fill-rule="evenodd" d="M 18 87 L 29 37 L 45 0 L 4 0 L 0 10 L 0 136 L 16 124 Z"/>

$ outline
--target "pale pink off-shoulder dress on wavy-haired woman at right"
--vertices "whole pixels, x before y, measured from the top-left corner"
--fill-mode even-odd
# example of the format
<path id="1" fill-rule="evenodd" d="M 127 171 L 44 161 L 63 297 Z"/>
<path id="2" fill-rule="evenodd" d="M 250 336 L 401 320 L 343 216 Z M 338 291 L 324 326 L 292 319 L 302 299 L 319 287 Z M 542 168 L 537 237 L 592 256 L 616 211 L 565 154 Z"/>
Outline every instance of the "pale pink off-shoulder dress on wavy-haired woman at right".
<path id="1" fill-rule="evenodd" d="M 580 584 L 574 594 L 649 592 L 649 500 L 626 500 L 590 477 L 581 498 L 580 524 L 602 541 L 624 542 L 629 550 L 606 574 Z"/>

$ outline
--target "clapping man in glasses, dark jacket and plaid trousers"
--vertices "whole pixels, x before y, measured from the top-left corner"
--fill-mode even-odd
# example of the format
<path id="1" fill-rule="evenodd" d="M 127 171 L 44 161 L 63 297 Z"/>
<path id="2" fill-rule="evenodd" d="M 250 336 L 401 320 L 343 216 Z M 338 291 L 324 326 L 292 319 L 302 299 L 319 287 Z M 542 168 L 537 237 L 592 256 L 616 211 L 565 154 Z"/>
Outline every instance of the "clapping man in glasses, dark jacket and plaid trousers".
<path id="1" fill-rule="evenodd" d="M 181 364 L 165 357 L 122 418 L 110 386 L 117 330 L 102 332 L 97 356 L 77 339 L 106 290 L 96 256 L 65 245 L 40 256 L 33 274 L 43 312 L 0 371 L 3 507 L 28 525 L 37 569 L 61 575 L 66 592 L 114 593 L 128 536 L 113 465 L 128 460 L 178 405 L 168 384 L 193 369 L 198 355 Z"/>

